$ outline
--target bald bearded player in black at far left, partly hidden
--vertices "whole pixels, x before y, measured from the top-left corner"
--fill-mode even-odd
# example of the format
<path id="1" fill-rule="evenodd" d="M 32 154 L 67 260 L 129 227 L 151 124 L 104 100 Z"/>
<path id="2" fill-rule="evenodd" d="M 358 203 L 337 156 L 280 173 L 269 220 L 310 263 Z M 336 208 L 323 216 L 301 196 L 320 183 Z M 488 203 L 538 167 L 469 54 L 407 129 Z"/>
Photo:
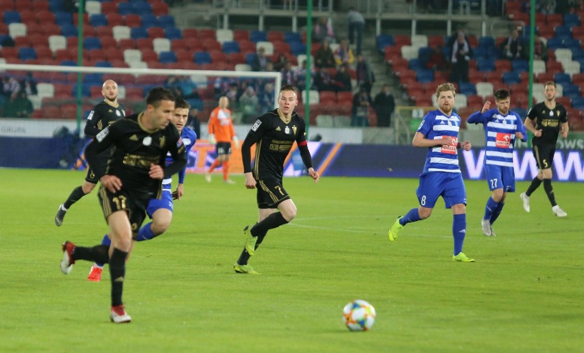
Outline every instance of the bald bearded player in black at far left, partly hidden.
<path id="1" fill-rule="evenodd" d="M 84 129 L 85 135 L 92 138 L 97 135 L 99 131 L 112 125 L 116 120 L 125 116 L 123 105 L 118 102 L 118 85 L 115 81 L 111 79 L 106 80 L 104 85 L 101 86 L 101 94 L 104 95 L 104 100 L 97 103 L 97 105 L 91 109 L 89 116 L 87 116 L 87 122 Z M 69 211 L 69 207 L 93 190 L 97 184 L 95 170 L 105 170 L 110 153 L 110 150 L 102 152 L 99 155 L 99 160 L 95 162 L 96 165 L 89 165 L 87 167 L 83 184 L 75 187 L 73 192 L 71 192 L 71 195 L 69 195 L 65 202 L 59 206 L 57 215 L 55 216 L 55 224 L 57 224 L 57 226 L 60 226 L 63 223 L 63 218 L 66 211 Z"/>

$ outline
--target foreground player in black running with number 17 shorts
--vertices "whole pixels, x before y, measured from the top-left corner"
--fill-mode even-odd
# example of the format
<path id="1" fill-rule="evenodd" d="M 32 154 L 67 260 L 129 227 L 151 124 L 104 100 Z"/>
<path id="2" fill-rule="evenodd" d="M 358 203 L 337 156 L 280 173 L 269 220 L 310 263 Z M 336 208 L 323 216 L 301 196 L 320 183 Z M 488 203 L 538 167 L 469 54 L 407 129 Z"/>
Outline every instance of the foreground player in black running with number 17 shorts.
<path id="1" fill-rule="evenodd" d="M 62 245 L 61 271 L 69 274 L 76 260 L 108 263 L 112 283 L 112 310 L 115 323 L 130 322 L 122 302 L 125 261 L 132 250 L 132 239 L 146 216 L 151 198 L 160 198 L 162 179 L 186 165 L 184 144 L 170 123 L 175 97 L 166 88 L 153 88 L 146 97 L 146 110 L 114 122 L 98 133 L 87 146 L 89 164 L 99 162 L 99 153 L 113 147 L 105 170 L 95 170 L 101 182 L 99 202 L 110 228 L 111 246 L 91 248 Z M 165 165 L 167 153 L 173 157 Z"/>

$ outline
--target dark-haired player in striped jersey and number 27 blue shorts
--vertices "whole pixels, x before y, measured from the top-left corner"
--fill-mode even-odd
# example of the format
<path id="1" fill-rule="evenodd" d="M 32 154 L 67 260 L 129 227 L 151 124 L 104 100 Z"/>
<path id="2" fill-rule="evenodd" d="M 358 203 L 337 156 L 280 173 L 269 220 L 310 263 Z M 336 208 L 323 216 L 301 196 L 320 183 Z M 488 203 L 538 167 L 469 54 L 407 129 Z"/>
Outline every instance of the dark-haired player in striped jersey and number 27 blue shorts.
<path id="1" fill-rule="evenodd" d="M 467 123 L 485 126 L 485 174 L 492 194 L 487 200 L 485 215 L 480 222 L 483 234 L 496 237 L 493 223 L 497 220 L 507 192 L 515 192 L 515 171 L 513 170 L 513 144 L 515 138 L 527 140 L 527 131 L 521 117 L 509 110 L 511 94 L 508 90 L 495 92 L 497 109 L 490 109 L 491 102 L 485 102 L 483 109 L 469 116 Z"/>

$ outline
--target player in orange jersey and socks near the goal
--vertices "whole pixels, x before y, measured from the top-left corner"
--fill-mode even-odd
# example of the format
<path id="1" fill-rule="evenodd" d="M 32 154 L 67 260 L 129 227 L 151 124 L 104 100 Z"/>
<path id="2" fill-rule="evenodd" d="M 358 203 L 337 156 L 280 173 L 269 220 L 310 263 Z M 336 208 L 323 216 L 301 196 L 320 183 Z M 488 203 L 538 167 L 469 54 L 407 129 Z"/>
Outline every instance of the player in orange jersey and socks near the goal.
<path id="1" fill-rule="evenodd" d="M 221 96 L 219 107 L 213 109 L 209 118 L 209 143 L 217 146 L 217 159 L 205 172 L 205 180 L 208 183 L 211 182 L 211 172 L 219 165 L 223 167 L 223 183 L 235 183 L 229 179 L 229 155 L 231 154 L 231 142 L 233 141 L 235 148 L 239 148 L 239 139 L 235 135 L 231 111 L 227 109 L 228 106 L 229 99 L 226 96 Z"/>

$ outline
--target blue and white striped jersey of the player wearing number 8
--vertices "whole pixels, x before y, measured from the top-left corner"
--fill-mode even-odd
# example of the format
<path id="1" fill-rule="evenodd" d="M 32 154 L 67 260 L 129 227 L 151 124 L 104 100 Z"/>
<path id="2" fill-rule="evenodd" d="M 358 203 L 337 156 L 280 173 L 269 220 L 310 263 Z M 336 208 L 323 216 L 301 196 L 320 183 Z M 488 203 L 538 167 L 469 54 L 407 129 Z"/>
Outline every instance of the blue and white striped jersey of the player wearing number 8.
<path id="1" fill-rule="evenodd" d="M 461 127 L 461 117 L 452 112 L 446 116 L 439 109 L 428 112 L 424 120 L 417 128 L 417 132 L 422 133 L 428 140 L 439 140 L 444 136 L 454 138 L 452 146 L 433 146 L 430 147 L 426 155 L 425 172 L 449 172 L 460 173 L 459 158 L 457 152 L 457 142 L 459 138 L 459 129 Z"/>

